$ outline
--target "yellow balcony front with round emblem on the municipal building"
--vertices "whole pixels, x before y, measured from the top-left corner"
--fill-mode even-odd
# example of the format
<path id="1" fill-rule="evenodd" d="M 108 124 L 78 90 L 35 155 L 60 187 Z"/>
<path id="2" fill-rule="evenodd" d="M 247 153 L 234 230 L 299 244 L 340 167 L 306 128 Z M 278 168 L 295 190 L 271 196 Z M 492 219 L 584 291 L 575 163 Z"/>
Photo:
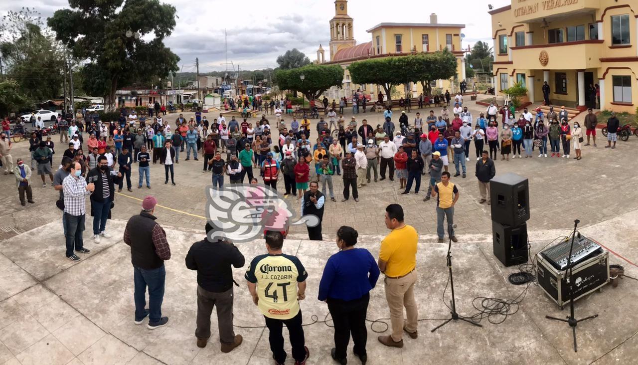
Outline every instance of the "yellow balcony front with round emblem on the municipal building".
<path id="1" fill-rule="evenodd" d="M 600 67 L 602 40 L 512 47 L 512 64 L 521 70 L 584 70 Z"/>

